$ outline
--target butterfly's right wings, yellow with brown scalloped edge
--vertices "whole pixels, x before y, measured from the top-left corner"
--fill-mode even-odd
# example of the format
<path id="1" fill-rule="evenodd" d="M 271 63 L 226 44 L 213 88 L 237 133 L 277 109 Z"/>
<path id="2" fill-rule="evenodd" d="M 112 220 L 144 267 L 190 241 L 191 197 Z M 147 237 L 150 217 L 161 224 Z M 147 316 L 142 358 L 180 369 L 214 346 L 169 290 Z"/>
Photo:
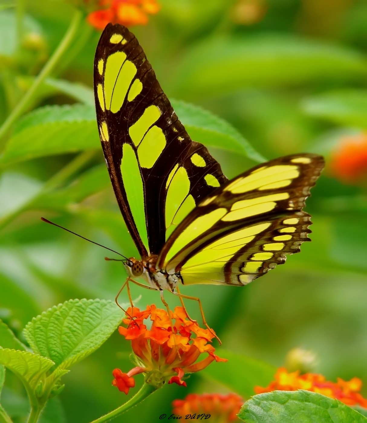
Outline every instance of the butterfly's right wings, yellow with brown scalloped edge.
<path id="1" fill-rule="evenodd" d="M 285 261 L 309 240 L 302 209 L 323 169 L 316 154 L 259 165 L 205 198 L 168 239 L 158 266 L 184 283 L 244 285 Z"/>

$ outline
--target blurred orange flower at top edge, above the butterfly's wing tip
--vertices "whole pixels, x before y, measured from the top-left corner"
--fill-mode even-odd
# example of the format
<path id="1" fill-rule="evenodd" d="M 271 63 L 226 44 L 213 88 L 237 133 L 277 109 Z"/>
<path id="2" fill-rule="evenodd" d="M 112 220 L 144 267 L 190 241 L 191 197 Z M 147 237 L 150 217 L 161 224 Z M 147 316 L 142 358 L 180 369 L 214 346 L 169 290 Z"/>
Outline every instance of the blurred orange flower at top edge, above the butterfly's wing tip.
<path id="1" fill-rule="evenodd" d="M 148 14 L 156 14 L 160 5 L 156 0 L 99 0 L 100 10 L 88 14 L 88 22 L 96 29 L 103 30 L 112 22 L 130 27 L 146 25 Z"/>

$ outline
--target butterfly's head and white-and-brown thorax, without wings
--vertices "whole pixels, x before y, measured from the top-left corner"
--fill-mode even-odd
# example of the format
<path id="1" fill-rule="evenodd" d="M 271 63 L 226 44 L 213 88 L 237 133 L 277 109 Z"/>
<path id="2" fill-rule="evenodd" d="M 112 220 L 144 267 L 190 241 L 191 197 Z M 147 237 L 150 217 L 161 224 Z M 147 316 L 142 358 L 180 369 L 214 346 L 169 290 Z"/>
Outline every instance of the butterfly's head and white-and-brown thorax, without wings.
<path id="1" fill-rule="evenodd" d="M 178 273 L 169 274 L 165 269 L 157 269 L 157 255 L 151 255 L 146 260 L 137 260 L 131 257 L 127 260 L 126 267 L 131 277 L 142 277 L 149 286 L 159 291 L 168 289 L 174 291 L 179 280 L 182 281 Z"/>

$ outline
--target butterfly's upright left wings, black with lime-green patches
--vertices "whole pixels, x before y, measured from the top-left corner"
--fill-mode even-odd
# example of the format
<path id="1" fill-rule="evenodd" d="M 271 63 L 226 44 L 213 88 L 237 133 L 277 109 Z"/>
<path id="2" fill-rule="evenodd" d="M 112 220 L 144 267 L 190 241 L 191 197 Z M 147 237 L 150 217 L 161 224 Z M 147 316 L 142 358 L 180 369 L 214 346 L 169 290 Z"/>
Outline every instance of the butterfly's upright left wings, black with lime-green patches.
<path id="1" fill-rule="evenodd" d="M 135 36 L 107 25 L 94 61 L 97 122 L 121 213 L 141 257 L 227 179 L 180 123 Z"/>

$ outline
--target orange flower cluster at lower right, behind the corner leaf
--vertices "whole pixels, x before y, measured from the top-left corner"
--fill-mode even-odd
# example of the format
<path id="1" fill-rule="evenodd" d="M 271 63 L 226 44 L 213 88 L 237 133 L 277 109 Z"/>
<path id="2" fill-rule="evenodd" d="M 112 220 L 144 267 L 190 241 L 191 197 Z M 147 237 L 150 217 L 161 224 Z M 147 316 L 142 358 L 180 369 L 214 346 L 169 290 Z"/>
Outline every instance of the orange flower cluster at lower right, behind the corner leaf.
<path id="1" fill-rule="evenodd" d="M 275 381 L 271 382 L 266 388 L 255 386 L 254 391 L 260 394 L 274 390 L 295 391 L 305 389 L 338 399 L 347 405 L 360 405 L 367 408 L 367 399 L 359 393 L 361 386 L 361 379 L 357 377 L 353 377 L 349 382 L 338 377 L 335 383 L 327 381 L 325 376 L 321 374 L 300 374 L 299 371 L 288 373 L 287 369 L 281 367 L 275 374 Z"/>

